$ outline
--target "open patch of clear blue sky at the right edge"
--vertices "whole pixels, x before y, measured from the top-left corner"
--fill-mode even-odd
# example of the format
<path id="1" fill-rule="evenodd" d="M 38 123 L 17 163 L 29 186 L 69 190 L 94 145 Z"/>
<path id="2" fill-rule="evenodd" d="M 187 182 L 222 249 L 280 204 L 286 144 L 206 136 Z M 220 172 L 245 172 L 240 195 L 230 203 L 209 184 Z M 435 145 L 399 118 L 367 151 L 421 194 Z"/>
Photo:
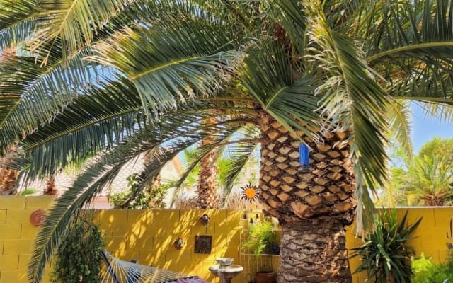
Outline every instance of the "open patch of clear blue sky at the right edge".
<path id="1" fill-rule="evenodd" d="M 413 115 L 412 141 L 413 151 L 418 153 L 420 146 L 433 137 L 453 137 L 453 125 L 440 118 L 426 116 L 423 110 L 415 104 L 411 105 Z"/>

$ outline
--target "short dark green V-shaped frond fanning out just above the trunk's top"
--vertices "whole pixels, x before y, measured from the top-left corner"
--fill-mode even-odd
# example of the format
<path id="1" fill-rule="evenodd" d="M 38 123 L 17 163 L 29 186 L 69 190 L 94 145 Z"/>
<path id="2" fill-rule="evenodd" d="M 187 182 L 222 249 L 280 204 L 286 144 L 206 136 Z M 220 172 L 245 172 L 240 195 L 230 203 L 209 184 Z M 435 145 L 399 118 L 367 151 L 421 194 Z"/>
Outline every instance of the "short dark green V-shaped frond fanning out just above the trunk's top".
<path id="1" fill-rule="evenodd" d="M 319 128 L 319 115 L 314 112 L 319 102 L 314 96 L 314 77 L 294 77 L 291 60 L 277 42 L 253 48 L 249 53 L 243 71 L 246 75 L 241 78 L 246 91 L 287 129 L 299 129 L 313 137 L 311 128 Z M 304 125 L 297 120 L 304 121 Z"/>

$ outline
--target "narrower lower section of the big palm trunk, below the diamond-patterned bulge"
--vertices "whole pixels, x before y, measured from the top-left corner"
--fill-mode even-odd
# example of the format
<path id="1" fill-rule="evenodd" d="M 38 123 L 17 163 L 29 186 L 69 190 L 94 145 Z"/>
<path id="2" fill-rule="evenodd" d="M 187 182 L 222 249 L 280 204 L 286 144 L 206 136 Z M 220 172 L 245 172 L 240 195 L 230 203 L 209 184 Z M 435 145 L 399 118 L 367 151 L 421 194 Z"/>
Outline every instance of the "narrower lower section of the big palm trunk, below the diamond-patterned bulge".
<path id="1" fill-rule="evenodd" d="M 283 224 L 278 282 L 352 282 L 343 221 L 318 217 Z"/>

